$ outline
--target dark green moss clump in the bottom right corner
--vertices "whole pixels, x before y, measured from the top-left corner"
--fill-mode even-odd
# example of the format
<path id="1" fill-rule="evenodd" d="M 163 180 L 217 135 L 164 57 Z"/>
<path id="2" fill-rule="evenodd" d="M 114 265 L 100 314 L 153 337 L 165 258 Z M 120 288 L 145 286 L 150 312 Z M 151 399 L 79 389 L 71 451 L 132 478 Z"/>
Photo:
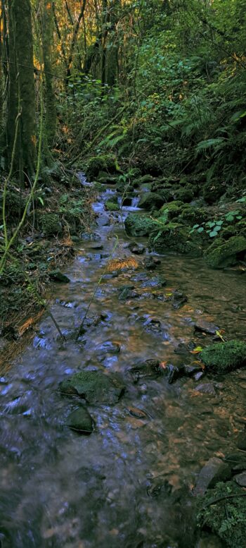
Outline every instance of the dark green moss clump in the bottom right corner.
<path id="1" fill-rule="evenodd" d="M 243 493 L 235 482 L 220 482 L 198 501 L 198 525 L 211 529 L 228 548 L 246 548 L 246 497 L 241 496 Z"/>

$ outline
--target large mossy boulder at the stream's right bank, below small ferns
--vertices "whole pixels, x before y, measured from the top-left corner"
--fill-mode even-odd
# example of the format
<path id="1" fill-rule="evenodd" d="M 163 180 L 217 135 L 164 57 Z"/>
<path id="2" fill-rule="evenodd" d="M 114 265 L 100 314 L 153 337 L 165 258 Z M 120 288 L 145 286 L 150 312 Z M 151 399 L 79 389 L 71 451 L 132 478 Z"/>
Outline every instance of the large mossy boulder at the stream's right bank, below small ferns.
<path id="1" fill-rule="evenodd" d="M 157 253 L 164 253 L 171 249 L 191 257 L 200 257 L 202 246 L 200 245 L 200 236 L 196 236 L 192 239 L 190 229 L 181 224 L 168 223 L 163 229 L 155 230 L 150 234 L 148 246 L 150 250 Z"/>

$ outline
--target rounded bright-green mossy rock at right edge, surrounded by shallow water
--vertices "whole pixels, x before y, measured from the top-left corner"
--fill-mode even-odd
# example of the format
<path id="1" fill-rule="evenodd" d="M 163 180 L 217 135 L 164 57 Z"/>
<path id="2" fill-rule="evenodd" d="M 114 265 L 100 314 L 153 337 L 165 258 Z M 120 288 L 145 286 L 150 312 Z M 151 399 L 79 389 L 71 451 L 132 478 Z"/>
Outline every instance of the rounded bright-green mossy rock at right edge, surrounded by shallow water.
<path id="1" fill-rule="evenodd" d="M 200 358 L 208 370 L 226 373 L 246 365 L 246 343 L 227 341 L 210 344 L 202 350 Z"/>

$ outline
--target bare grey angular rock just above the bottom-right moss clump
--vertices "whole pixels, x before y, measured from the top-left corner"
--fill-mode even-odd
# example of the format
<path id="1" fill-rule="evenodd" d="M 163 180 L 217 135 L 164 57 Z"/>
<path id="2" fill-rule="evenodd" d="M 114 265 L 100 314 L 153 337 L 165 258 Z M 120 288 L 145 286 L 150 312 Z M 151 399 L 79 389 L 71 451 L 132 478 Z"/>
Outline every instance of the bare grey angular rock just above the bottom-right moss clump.
<path id="1" fill-rule="evenodd" d="M 194 489 L 196 496 L 205 494 L 207 489 L 211 489 L 218 482 L 230 480 L 231 468 L 227 463 L 221 461 L 220 458 L 212 457 L 200 471 L 198 481 Z"/>

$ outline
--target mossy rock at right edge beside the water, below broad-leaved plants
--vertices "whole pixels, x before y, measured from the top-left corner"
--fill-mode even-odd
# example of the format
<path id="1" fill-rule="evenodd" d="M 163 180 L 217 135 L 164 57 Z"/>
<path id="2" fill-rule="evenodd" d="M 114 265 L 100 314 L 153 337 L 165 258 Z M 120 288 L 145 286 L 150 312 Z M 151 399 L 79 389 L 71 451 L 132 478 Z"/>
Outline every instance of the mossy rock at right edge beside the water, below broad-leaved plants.
<path id="1" fill-rule="evenodd" d="M 205 260 L 209 267 L 224 268 L 235 264 L 238 254 L 246 251 L 246 238 L 244 236 L 232 236 L 227 242 L 209 248 Z"/>

